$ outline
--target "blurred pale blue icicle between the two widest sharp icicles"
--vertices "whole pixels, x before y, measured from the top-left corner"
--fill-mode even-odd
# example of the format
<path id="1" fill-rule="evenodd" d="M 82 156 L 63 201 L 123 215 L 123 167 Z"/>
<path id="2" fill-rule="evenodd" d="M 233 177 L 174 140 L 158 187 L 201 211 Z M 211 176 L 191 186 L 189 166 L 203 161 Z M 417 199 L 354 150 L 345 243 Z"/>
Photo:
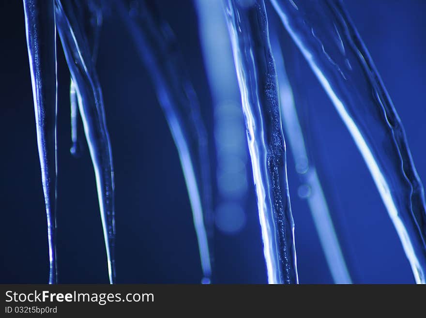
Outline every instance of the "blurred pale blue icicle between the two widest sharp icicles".
<path id="1" fill-rule="evenodd" d="M 278 37 L 274 32 L 271 32 L 271 45 L 278 74 L 283 127 L 293 154 L 296 171 L 303 182 L 302 186 L 309 188 L 306 201 L 320 238 L 328 268 L 336 284 L 352 284 L 317 170 L 308 159 L 304 133 L 294 105 L 293 92 L 287 78 L 283 53 Z"/>

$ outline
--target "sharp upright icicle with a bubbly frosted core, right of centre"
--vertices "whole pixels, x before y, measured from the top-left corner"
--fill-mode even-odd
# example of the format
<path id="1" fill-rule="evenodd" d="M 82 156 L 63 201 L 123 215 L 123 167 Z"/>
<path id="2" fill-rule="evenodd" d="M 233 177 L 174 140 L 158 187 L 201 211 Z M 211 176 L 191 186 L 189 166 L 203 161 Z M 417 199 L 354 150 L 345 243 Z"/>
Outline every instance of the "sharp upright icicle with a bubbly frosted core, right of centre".
<path id="1" fill-rule="evenodd" d="M 263 0 L 225 0 L 258 199 L 268 281 L 298 283 L 278 82 Z"/>

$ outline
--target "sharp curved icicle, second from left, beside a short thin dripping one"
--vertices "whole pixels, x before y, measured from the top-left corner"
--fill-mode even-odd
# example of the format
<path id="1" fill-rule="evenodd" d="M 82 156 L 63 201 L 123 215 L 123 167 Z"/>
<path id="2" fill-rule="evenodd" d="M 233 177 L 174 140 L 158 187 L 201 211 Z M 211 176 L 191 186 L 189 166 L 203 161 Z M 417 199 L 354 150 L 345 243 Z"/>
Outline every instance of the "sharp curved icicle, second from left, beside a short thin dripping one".
<path id="1" fill-rule="evenodd" d="M 102 91 L 88 41 L 76 17 L 73 1 L 55 1 L 56 23 L 65 58 L 76 83 L 84 132 L 96 177 L 96 187 L 106 245 L 109 281 L 115 282 L 114 170 L 106 129 Z"/>

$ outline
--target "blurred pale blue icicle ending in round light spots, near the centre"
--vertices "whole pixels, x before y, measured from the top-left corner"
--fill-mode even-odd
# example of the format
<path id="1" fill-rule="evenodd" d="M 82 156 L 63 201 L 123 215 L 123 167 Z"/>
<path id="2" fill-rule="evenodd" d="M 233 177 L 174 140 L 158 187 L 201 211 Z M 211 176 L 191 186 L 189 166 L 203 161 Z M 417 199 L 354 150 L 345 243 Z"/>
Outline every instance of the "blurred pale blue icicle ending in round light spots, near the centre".
<path id="1" fill-rule="evenodd" d="M 213 102 L 216 228 L 236 234 L 246 225 L 247 144 L 241 96 L 221 1 L 196 0 L 199 38 Z"/>

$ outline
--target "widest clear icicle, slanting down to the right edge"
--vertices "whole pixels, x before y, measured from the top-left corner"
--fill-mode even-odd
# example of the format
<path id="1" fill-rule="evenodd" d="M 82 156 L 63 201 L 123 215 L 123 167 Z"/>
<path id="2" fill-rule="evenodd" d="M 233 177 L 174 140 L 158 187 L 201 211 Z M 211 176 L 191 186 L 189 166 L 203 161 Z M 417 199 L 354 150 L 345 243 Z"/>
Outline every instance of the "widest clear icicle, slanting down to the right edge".
<path id="1" fill-rule="evenodd" d="M 341 1 L 272 3 L 363 155 L 416 282 L 425 283 L 423 185 L 402 123 L 357 30 Z"/>

